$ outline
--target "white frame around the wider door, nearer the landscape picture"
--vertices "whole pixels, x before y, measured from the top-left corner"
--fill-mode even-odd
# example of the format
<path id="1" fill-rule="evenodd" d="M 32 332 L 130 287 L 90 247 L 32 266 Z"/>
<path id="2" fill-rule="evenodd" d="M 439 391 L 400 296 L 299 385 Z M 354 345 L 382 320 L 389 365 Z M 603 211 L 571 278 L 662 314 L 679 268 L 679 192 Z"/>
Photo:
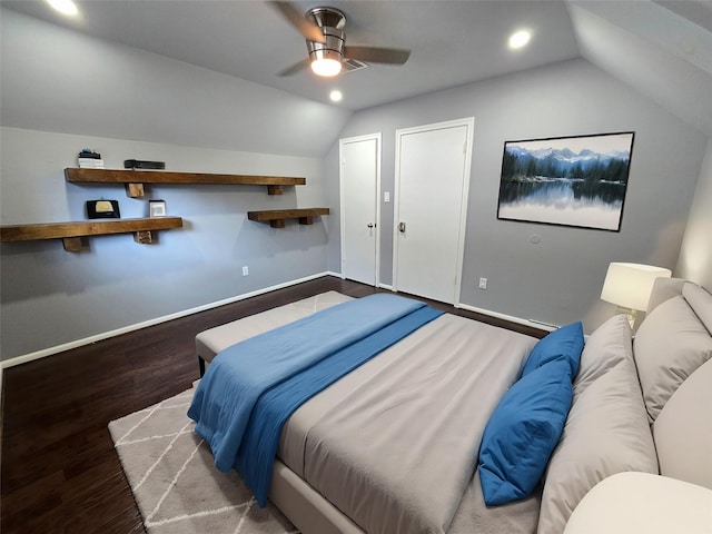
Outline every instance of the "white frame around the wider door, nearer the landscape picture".
<path id="1" fill-rule="evenodd" d="M 395 158 L 395 186 L 394 186 L 394 206 L 393 206 L 393 289 L 398 290 L 398 221 L 400 218 L 400 144 L 404 136 L 412 134 L 421 134 L 432 130 L 442 130 L 446 128 L 465 127 L 465 166 L 463 169 L 463 190 L 462 201 L 459 206 L 459 229 L 457 235 L 457 260 L 455 266 L 455 301 L 452 303 L 456 308 L 461 307 L 459 296 L 462 290 L 463 264 L 465 258 L 465 234 L 467 231 L 467 207 L 469 205 L 469 181 L 472 169 L 472 147 L 475 130 L 475 118 L 465 117 L 462 119 L 446 120 L 443 122 L 434 122 L 431 125 L 416 126 L 413 128 L 399 128 L 396 130 L 396 158 Z M 449 303 L 448 303 L 449 304 Z"/>

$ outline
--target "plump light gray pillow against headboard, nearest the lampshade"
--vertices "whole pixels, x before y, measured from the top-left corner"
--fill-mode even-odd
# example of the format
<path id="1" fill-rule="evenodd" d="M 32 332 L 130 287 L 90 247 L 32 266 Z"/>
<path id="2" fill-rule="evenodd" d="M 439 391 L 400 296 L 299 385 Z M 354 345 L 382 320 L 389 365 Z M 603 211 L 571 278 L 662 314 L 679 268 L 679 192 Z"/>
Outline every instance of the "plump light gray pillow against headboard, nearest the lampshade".
<path id="1" fill-rule="evenodd" d="M 712 357 L 712 337 L 681 295 L 645 318 L 633 342 L 633 353 L 653 423 L 684 379 Z"/>

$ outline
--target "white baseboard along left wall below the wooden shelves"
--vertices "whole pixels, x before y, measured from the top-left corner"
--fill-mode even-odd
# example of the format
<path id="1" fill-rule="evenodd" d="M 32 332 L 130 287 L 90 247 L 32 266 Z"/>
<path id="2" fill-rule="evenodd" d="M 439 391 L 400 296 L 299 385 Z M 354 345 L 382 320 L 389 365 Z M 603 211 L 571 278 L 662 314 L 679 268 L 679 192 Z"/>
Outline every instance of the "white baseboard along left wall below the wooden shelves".
<path id="1" fill-rule="evenodd" d="M 129 332 L 139 330 L 141 328 L 146 328 L 147 326 L 155 326 L 161 323 L 166 323 L 172 319 L 179 319 L 180 317 L 186 317 L 187 315 L 197 314 L 198 312 L 205 312 L 208 309 L 217 308 L 219 306 L 225 306 L 226 304 L 237 303 L 239 300 L 245 300 L 246 298 L 256 297 L 257 295 L 264 295 L 265 293 L 274 291 L 276 289 L 284 289 L 285 287 L 295 286 L 297 284 L 301 284 L 303 281 L 314 280 L 316 278 L 322 278 L 323 276 L 338 276 L 340 275 L 335 273 L 319 273 L 317 275 L 306 276 L 304 278 L 299 278 L 296 280 L 285 281 L 283 284 L 277 284 L 276 286 L 266 287 L 264 289 L 257 289 L 255 291 L 245 293 L 243 295 L 238 295 L 236 297 L 226 298 L 222 300 L 217 300 L 215 303 L 204 304 L 202 306 L 197 306 L 195 308 L 185 309 L 182 312 L 177 312 L 175 314 L 165 315 L 162 317 L 156 317 L 155 319 L 145 320 L 142 323 L 137 323 L 135 325 L 128 325 L 122 328 L 117 328 L 116 330 L 102 332 L 101 334 L 96 334 L 93 336 L 85 337 L 82 339 L 77 339 L 73 342 L 65 343 L 62 345 L 57 345 L 55 347 L 43 348 L 42 350 L 37 350 L 34 353 L 23 354 L 21 356 L 16 356 L 14 358 L 9 358 L 0 362 L 0 369 L 7 367 L 13 367 L 16 365 L 26 364 L 28 362 L 32 362 L 34 359 L 44 358 L 47 356 L 52 356 L 58 353 L 62 353 L 65 350 L 69 350 L 77 347 L 82 347 L 85 345 L 89 345 L 91 343 L 101 342 L 103 339 L 108 339 L 110 337 L 120 336 L 121 334 L 127 334 Z M 2 379 L 2 373 L 0 372 L 0 379 Z M 0 385 L 0 390 L 1 390 Z"/>

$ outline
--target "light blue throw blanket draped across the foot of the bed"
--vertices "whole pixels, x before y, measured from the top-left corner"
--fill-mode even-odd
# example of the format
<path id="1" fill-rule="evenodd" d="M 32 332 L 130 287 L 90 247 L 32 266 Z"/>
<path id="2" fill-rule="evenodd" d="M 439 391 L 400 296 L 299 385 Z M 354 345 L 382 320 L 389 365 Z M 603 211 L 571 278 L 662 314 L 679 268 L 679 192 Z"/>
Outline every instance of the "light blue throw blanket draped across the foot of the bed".
<path id="1" fill-rule="evenodd" d="M 264 393 L 422 308 L 427 307 L 417 300 L 376 294 L 325 309 L 220 352 L 200 380 L 188 409 L 188 416 L 197 423 L 196 432 L 212 449 L 216 467 L 227 472 L 238 464 L 238 451 L 245 441 L 248 422 L 250 417 L 250 424 L 259 419 L 254 415 L 254 408 Z M 432 312 L 434 315 L 422 324 L 439 315 L 438 312 Z M 415 328 L 411 326 L 409 332 Z M 402 332 L 399 337 L 394 337 L 383 348 L 396 343 L 407 333 Z M 374 348 L 376 352 L 367 357 L 360 350 L 352 352 L 357 353 L 363 363 L 383 348 Z M 360 364 L 324 364 L 315 373 L 325 372 L 326 375 L 318 379 L 301 379 L 307 389 L 301 384 L 297 396 L 303 398 L 300 402 L 306 400 L 348 373 L 349 366 L 353 368 L 357 365 Z M 329 367 L 333 367 L 332 372 L 326 372 Z M 329 374 L 330 377 L 327 376 Z M 285 387 L 289 389 L 291 385 Z M 296 409 L 291 407 L 294 400 L 287 404 L 289 413 Z M 278 436 L 277 432 L 277 439 Z M 266 494 L 260 504 L 264 505 L 265 501 Z"/>

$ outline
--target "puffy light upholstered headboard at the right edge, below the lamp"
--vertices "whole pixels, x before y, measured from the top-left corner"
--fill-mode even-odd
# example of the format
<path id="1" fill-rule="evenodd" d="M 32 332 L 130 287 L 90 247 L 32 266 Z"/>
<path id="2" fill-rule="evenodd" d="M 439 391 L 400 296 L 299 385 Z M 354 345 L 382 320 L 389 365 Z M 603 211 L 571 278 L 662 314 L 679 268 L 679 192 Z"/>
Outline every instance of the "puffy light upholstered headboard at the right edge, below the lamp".
<path id="1" fill-rule="evenodd" d="M 635 337 L 635 363 L 660 473 L 712 488 L 712 295 L 659 278 Z"/>

